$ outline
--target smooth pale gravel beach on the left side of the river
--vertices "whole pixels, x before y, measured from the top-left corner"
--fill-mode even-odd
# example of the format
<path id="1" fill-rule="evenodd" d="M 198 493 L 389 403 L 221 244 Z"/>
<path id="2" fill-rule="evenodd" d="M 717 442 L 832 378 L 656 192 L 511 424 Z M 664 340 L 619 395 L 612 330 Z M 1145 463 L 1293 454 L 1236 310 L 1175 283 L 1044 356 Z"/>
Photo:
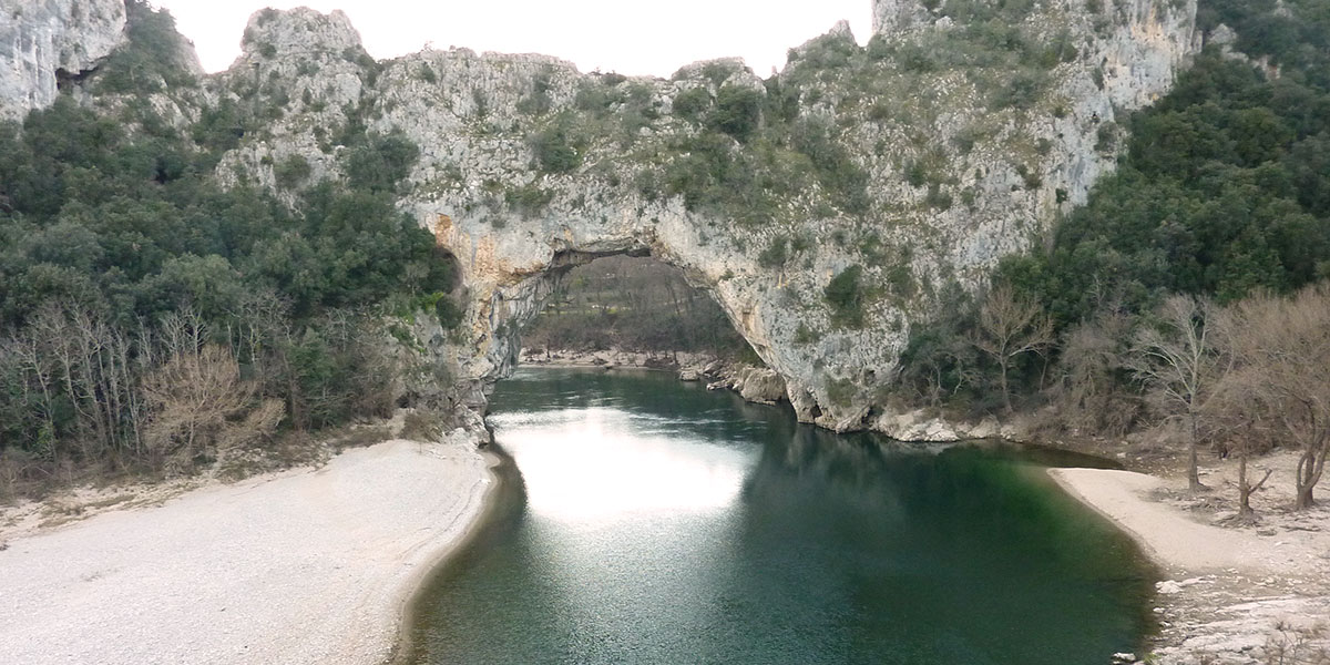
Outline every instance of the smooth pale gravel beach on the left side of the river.
<path id="1" fill-rule="evenodd" d="M 378 664 L 488 458 L 390 442 L 0 551 L 0 662 Z"/>

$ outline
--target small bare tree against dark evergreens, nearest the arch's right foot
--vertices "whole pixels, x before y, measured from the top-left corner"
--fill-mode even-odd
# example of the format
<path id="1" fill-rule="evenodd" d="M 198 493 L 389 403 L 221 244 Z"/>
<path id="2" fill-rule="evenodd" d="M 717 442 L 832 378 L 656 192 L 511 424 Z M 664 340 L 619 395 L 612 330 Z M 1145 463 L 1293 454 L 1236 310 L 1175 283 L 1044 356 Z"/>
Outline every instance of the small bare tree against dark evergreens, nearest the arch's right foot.
<path id="1" fill-rule="evenodd" d="M 1053 325 L 1037 303 L 1019 301 L 1011 286 L 999 285 L 988 291 L 988 298 L 979 310 L 979 330 L 971 340 L 998 363 L 1003 406 L 1011 412 L 1011 387 L 1007 379 L 1011 366 L 1016 358 L 1043 352 L 1052 344 Z"/>

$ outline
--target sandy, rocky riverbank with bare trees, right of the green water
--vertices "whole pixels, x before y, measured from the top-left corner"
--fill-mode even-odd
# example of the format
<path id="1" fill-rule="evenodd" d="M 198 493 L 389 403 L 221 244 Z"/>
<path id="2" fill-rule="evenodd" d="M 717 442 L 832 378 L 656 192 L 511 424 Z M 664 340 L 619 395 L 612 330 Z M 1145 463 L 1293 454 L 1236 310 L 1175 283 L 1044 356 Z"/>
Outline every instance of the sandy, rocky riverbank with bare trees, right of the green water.
<path id="1" fill-rule="evenodd" d="M 1160 621 L 1146 662 L 1158 665 L 1330 662 L 1330 511 L 1295 513 L 1294 456 L 1262 458 L 1270 491 L 1253 499 L 1256 524 L 1234 521 L 1236 463 L 1204 469 L 1210 491 L 1184 477 L 1051 469 L 1068 493 L 1129 533 L 1160 567 Z M 1260 476 L 1258 476 L 1260 477 Z"/>

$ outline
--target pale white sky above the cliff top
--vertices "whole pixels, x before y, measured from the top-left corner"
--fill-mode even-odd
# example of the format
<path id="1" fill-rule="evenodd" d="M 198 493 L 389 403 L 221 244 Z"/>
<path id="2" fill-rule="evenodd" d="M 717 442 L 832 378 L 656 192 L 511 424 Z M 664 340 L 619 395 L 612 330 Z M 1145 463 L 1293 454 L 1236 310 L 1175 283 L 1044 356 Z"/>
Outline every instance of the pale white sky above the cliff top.
<path id="1" fill-rule="evenodd" d="M 866 43 L 871 0 L 156 0 L 194 41 L 203 68 L 239 56 L 249 16 L 265 7 L 342 9 L 374 57 L 466 47 L 545 53 L 583 72 L 668 77 L 680 66 L 739 56 L 758 76 L 785 66 L 785 53 L 846 19 Z"/>

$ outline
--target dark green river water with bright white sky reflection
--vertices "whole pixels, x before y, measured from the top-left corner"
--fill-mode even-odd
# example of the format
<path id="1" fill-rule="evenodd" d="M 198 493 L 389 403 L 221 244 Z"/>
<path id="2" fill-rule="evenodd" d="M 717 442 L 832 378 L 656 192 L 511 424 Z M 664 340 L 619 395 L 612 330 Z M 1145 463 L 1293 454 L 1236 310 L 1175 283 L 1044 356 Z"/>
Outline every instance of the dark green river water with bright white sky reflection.
<path id="1" fill-rule="evenodd" d="M 420 664 L 1104 665 L 1134 547 L 1028 454 L 794 423 L 666 374 L 519 371 L 521 477 L 431 583 Z"/>

